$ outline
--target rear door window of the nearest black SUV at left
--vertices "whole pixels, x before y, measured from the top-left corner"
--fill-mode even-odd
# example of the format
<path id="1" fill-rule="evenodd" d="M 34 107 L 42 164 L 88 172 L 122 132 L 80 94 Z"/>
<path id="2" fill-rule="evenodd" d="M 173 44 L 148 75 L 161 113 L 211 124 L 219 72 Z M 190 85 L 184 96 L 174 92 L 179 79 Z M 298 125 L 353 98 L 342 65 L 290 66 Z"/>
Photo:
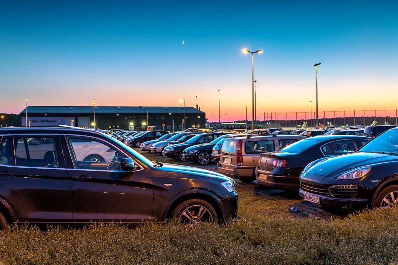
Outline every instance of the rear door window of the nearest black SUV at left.
<path id="1" fill-rule="evenodd" d="M 54 137 L 15 137 L 17 166 L 58 168 Z"/>

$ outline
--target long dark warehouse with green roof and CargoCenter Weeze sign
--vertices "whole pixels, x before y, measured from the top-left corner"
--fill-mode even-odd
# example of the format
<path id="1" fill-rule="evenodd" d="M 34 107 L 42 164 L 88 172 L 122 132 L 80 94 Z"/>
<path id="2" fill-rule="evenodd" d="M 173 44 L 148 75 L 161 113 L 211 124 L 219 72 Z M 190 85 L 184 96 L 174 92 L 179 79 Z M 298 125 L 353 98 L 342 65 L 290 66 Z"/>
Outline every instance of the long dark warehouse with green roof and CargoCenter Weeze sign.
<path id="1" fill-rule="evenodd" d="M 27 118 L 26 118 L 27 110 Z M 193 107 L 28 106 L 21 112 L 21 126 L 72 125 L 81 128 L 178 131 L 205 127 L 206 113 Z"/>

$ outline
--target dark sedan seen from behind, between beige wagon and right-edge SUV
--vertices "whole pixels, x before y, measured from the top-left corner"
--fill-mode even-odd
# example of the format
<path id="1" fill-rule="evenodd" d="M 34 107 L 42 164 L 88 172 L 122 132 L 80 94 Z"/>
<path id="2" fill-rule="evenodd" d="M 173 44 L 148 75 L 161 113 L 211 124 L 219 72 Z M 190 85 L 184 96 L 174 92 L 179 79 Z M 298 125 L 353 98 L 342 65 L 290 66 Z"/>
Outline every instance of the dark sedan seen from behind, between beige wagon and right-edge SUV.
<path id="1" fill-rule="evenodd" d="M 319 158 L 352 153 L 370 140 L 354 135 L 324 135 L 262 153 L 255 170 L 256 179 L 262 186 L 298 191 L 300 174 L 306 165 Z"/>

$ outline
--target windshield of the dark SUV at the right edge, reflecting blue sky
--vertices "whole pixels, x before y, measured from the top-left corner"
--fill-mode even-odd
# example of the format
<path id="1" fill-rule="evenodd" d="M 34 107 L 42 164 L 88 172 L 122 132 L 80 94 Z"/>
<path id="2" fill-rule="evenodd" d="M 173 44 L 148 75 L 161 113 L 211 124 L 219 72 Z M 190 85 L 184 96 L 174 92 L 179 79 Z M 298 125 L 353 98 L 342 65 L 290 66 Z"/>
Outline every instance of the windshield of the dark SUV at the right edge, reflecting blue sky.
<path id="1" fill-rule="evenodd" d="M 390 130 L 364 145 L 360 152 L 391 153 L 398 155 L 398 130 Z"/>

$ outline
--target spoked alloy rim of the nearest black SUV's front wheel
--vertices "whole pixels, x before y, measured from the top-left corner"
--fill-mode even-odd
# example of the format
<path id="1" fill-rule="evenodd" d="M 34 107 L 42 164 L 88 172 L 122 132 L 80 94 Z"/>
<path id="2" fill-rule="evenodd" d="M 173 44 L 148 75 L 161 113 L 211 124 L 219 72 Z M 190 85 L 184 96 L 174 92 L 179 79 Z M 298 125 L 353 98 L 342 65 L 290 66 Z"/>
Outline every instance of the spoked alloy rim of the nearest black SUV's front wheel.
<path id="1" fill-rule="evenodd" d="M 178 220 L 180 223 L 190 227 L 214 222 L 211 212 L 202 205 L 192 205 L 186 208 L 183 210 Z"/>

